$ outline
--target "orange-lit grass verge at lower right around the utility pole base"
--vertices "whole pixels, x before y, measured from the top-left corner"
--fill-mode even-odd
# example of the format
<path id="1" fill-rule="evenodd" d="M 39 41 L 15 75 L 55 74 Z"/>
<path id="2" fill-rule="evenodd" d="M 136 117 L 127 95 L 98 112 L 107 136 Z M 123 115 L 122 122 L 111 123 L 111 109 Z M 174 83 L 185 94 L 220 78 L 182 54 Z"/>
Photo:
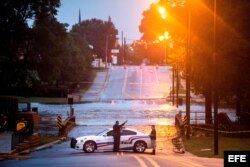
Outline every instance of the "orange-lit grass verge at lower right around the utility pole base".
<path id="1" fill-rule="evenodd" d="M 213 136 L 192 136 L 185 140 L 186 151 L 199 157 L 223 158 L 224 151 L 250 150 L 250 138 L 219 137 L 219 154 L 214 155 Z"/>

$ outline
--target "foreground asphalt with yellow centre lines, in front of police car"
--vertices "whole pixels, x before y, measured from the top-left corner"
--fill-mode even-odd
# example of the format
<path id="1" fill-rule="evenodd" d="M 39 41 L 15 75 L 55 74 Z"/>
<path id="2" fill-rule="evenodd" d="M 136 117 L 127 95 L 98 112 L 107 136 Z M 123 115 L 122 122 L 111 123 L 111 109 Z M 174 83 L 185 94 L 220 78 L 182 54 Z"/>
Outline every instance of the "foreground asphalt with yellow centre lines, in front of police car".
<path id="1" fill-rule="evenodd" d="M 222 159 L 198 158 L 189 153 L 176 154 L 170 150 L 159 150 L 151 155 L 133 152 L 84 153 L 69 148 L 69 141 L 52 148 L 33 152 L 31 158 L 1 161 L 1 167 L 222 167 Z"/>

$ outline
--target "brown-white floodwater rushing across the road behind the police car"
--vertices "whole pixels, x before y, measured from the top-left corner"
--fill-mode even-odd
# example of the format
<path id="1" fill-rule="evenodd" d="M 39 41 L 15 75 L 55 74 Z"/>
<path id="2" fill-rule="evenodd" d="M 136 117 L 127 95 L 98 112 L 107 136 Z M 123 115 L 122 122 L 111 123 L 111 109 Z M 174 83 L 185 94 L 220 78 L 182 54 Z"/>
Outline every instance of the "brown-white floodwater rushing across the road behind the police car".
<path id="1" fill-rule="evenodd" d="M 70 111 L 68 104 L 32 103 L 31 105 L 38 108 L 42 118 L 42 124 L 39 127 L 39 133 L 42 134 L 56 134 L 58 132 L 57 116 L 61 115 L 65 119 Z M 111 127 L 116 120 L 121 123 L 127 120 L 128 126 L 165 126 L 174 125 L 174 117 L 179 110 L 183 111 L 183 116 L 185 116 L 185 105 L 176 108 L 164 101 L 119 100 L 111 103 L 74 104 L 72 107 L 76 116 L 76 125 L 88 129 L 87 133 L 98 133 L 99 129 Z M 236 120 L 233 109 L 219 109 L 219 112 L 226 112 L 231 120 Z M 191 105 L 191 123 L 204 123 L 204 115 L 203 105 Z M 93 128 L 96 126 L 98 127 L 97 131 L 94 130 L 96 128 Z"/>

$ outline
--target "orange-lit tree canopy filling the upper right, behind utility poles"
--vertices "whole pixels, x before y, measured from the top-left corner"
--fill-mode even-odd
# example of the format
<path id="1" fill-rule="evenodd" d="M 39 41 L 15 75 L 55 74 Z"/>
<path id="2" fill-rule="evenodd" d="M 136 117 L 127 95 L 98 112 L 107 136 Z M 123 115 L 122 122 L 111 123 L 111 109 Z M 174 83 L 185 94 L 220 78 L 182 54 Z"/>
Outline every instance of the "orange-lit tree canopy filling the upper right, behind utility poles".
<path id="1" fill-rule="evenodd" d="M 171 5 L 176 2 L 181 1 L 161 0 L 159 3 L 152 4 L 150 9 L 143 13 L 139 27 L 140 32 L 143 33 L 143 40 L 155 40 L 158 34 L 168 31 L 175 44 L 182 45 L 181 41 L 186 41 L 187 6 L 185 3 L 181 7 Z M 192 2 L 190 4 L 192 89 L 197 94 L 205 95 L 208 102 L 206 105 L 211 106 L 214 69 L 214 1 L 190 2 Z M 166 9 L 166 19 L 160 18 L 159 6 Z M 216 63 L 219 67 L 217 82 L 219 98 L 227 105 L 237 103 L 237 110 L 244 109 L 248 112 L 250 110 L 248 105 L 250 100 L 249 11 L 249 0 L 217 1 Z"/>

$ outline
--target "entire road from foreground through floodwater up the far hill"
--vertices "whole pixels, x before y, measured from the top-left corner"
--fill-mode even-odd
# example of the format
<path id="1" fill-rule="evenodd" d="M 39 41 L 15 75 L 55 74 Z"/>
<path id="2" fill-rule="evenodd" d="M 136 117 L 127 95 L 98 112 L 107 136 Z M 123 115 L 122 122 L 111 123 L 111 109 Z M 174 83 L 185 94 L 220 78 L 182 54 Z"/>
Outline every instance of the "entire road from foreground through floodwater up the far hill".
<path id="1" fill-rule="evenodd" d="M 128 120 L 129 126 L 140 125 L 141 129 L 151 124 L 173 125 L 176 109 L 166 104 L 165 98 L 171 87 L 169 67 L 130 66 L 112 67 L 108 72 L 97 73 L 90 89 L 81 96 L 81 101 L 91 102 L 74 105 L 77 126 L 69 137 L 86 135 L 110 127 L 115 120 Z M 163 100 L 163 102 L 162 102 Z M 67 105 L 32 104 L 39 108 L 45 121 L 53 122 L 56 116 L 67 116 Z M 81 126 L 84 125 L 84 126 Z M 51 127 L 44 131 L 50 131 Z M 164 128 L 163 128 L 164 129 Z M 222 159 L 199 158 L 190 153 L 176 154 L 169 142 L 169 129 L 158 130 L 157 155 L 151 150 L 143 154 L 133 152 L 95 152 L 86 154 L 73 150 L 69 142 L 54 145 L 42 151 L 32 152 L 23 160 L 0 161 L 0 167 L 221 167 Z M 165 135 L 165 136 L 164 136 Z M 25 157 L 26 155 L 24 155 Z"/>

